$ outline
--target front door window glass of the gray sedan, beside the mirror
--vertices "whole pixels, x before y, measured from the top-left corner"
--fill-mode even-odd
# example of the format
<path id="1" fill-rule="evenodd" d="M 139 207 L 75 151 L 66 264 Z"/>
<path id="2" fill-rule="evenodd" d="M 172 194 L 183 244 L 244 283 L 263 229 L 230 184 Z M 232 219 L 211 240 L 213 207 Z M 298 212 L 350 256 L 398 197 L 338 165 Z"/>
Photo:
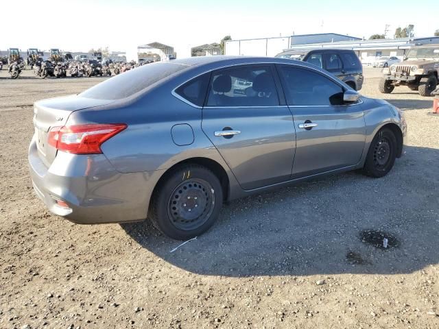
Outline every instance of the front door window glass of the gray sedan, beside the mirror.
<path id="1" fill-rule="evenodd" d="M 294 66 L 281 66 L 280 71 L 288 105 L 342 105 L 342 87 L 327 77 Z"/>

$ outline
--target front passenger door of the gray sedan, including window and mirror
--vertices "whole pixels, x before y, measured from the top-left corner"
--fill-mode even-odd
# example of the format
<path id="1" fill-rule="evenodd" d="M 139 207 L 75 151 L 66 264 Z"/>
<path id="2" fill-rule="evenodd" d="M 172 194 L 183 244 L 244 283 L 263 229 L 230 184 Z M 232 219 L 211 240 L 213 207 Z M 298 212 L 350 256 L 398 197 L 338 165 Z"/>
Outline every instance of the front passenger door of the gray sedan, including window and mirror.
<path id="1" fill-rule="evenodd" d="M 344 105 L 342 86 L 318 71 L 292 65 L 278 70 L 296 127 L 292 178 L 357 164 L 366 137 L 361 101 Z"/>

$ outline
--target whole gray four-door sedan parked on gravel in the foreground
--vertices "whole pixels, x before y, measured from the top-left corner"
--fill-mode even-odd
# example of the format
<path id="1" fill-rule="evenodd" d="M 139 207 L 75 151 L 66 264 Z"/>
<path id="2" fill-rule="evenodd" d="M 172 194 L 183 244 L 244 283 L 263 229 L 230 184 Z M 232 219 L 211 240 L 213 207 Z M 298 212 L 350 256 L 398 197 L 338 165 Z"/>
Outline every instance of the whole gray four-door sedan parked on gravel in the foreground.
<path id="1" fill-rule="evenodd" d="M 226 200 L 328 173 L 383 177 L 403 153 L 398 108 L 281 58 L 141 66 L 34 104 L 36 194 L 75 223 L 147 217 L 167 236 L 208 230 Z"/>

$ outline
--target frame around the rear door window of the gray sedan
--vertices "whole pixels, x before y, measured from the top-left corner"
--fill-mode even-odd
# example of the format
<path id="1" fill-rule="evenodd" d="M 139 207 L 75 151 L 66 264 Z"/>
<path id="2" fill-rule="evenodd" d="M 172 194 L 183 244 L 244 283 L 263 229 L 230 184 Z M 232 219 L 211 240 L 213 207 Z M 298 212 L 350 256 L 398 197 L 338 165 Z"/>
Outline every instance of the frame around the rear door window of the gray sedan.
<path id="1" fill-rule="evenodd" d="M 233 69 L 241 69 L 244 67 L 268 67 L 272 73 L 272 77 L 273 77 L 273 81 L 274 81 L 274 87 L 276 88 L 276 94 L 277 94 L 277 99 L 278 99 L 278 105 L 271 105 L 271 106 L 254 106 L 254 105 L 248 105 L 248 106 L 207 106 L 207 101 L 209 100 L 209 95 L 211 93 L 211 82 L 213 79 L 213 75 L 219 71 L 228 71 L 228 70 L 233 70 Z M 203 108 L 279 108 L 279 107 L 287 107 L 287 103 L 286 103 L 286 99 L 285 99 L 285 95 L 283 94 L 283 89 L 279 89 L 279 84 L 281 84 L 280 82 L 280 78 L 277 77 L 279 80 L 276 80 L 277 77 L 277 71 L 274 68 L 274 64 L 273 63 L 248 63 L 248 64 L 235 64 L 233 66 L 223 66 L 217 69 L 214 69 L 211 71 L 211 77 L 209 80 L 209 87 L 207 87 L 207 93 L 206 93 L 206 97 L 204 97 L 204 106 Z M 282 97 L 281 94 L 279 93 L 280 91 L 282 91 Z"/>

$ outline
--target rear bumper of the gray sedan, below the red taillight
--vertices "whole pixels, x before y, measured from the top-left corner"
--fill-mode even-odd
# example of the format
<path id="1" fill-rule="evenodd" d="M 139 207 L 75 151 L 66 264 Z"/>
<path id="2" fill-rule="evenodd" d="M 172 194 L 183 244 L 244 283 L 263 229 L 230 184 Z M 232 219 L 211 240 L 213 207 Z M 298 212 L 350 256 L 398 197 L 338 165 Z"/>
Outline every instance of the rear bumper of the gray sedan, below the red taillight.
<path id="1" fill-rule="evenodd" d="M 74 223 L 120 223 L 147 217 L 156 172 L 120 173 L 104 154 L 75 155 L 58 151 L 48 168 L 29 146 L 34 191 L 47 208 Z M 154 184 L 153 184 L 154 183 Z M 65 202 L 60 206 L 57 202 Z"/>

